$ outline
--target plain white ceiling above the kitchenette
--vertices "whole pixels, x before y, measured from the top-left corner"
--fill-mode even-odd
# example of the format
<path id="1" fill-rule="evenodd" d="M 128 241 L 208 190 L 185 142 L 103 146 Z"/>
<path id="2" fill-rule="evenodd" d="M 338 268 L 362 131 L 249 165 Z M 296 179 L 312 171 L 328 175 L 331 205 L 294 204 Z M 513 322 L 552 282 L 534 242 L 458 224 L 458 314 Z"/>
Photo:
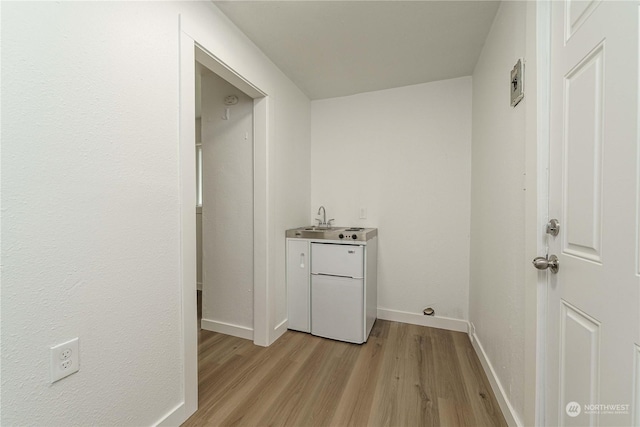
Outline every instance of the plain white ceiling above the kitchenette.
<path id="1" fill-rule="evenodd" d="M 214 1 L 311 99 L 469 76 L 499 1 Z"/>

